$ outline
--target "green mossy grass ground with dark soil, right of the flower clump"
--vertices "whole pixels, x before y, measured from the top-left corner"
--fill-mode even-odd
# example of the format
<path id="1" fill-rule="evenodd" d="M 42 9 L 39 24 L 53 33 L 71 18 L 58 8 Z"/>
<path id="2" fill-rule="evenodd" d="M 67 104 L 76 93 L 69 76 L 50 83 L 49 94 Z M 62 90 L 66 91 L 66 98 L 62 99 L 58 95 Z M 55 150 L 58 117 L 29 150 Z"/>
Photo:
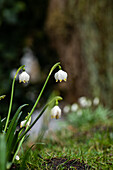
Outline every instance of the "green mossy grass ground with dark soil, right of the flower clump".
<path id="1" fill-rule="evenodd" d="M 21 169 L 29 170 L 112 170 L 113 118 L 50 131 L 27 153 L 23 165 Z"/>

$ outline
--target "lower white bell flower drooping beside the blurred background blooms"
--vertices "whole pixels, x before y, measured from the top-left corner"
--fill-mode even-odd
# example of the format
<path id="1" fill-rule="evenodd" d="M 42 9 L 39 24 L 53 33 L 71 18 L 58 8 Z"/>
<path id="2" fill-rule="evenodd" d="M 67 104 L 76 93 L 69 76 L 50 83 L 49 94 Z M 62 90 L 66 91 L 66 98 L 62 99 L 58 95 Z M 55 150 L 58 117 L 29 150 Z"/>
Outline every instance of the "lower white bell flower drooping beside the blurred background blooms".
<path id="1" fill-rule="evenodd" d="M 60 118 L 61 117 L 61 109 L 58 106 L 54 106 L 51 109 L 51 118 Z"/>

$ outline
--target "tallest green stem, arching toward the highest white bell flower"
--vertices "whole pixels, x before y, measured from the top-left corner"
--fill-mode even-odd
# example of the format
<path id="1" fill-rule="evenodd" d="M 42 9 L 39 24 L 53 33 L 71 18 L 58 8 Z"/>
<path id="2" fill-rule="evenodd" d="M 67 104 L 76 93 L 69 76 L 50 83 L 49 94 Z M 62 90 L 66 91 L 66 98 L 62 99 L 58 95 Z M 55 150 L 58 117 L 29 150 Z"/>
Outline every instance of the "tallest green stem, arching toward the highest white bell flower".
<path id="1" fill-rule="evenodd" d="M 38 104 L 38 102 L 39 102 L 39 100 L 40 100 L 40 98 L 41 98 L 41 96 L 42 96 L 42 93 L 43 93 L 43 91 L 44 91 L 44 89 L 45 89 L 45 87 L 46 87 L 46 85 L 47 85 L 47 82 L 48 82 L 48 80 L 49 80 L 49 78 L 50 78 L 53 70 L 54 70 L 57 66 L 59 66 L 59 65 L 60 65 L 60 62 L 56 63 L 56 64 L 51 68 L 51 70 L 50 70 L 50 72 L 49 72 L 49 74 L 48 74 L 48 76 L 47 76 L 47 78 L 46 78 L 46 81 L 45 81 L 45 83 L 44 83 L 44 86 L 43 86 L 43 88 L 42 88 L 42 90 L 41 90 L 41 92 L 40 92 L 40 94 L 39 94 L 39 96 L 38 96 L 38 98 L 37 98 L 37 100 L 36 100 L 33 108 L 31 109 L 31 112 L 29 113 L 29 116 L 28 116 L 28 119 L 27 119 L 27 121 L 26 121 L 26 124 L 27 124 L 29 118 L 31 117 L 32 113 L 34 112 L 34 110 L 35 110 L 35 108 L 36 108 L 36 106 L 37 106 L 37 104 Z"/>

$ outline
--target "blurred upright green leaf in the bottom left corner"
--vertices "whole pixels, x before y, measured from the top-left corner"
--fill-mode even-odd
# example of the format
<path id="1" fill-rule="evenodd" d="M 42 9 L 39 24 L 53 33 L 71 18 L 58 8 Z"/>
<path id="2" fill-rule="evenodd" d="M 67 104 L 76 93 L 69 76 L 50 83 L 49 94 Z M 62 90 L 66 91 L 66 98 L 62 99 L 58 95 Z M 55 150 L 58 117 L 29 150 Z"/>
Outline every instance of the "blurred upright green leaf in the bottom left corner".
<path id="1" fill-rule="evenodd" d="M 0 134 L 0 170 L 6 169 L 6 141 L 5 136 Z"/>

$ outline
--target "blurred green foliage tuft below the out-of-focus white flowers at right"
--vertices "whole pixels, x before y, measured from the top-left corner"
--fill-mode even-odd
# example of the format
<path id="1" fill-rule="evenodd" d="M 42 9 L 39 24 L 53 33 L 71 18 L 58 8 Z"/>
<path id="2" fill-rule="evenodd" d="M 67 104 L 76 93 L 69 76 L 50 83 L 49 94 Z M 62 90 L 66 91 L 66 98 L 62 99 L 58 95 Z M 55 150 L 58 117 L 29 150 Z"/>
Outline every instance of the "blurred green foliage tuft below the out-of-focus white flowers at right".
<path id="1" fill-rule="evenodd" d="M 97 122 L 105 122 L 109 116 L 113 116 L 112 112 L 100 105 L 96 109 L 85 108 L 69 113 L 67 121 L 75 127 L 81 127 L 96 124 Z"/>

